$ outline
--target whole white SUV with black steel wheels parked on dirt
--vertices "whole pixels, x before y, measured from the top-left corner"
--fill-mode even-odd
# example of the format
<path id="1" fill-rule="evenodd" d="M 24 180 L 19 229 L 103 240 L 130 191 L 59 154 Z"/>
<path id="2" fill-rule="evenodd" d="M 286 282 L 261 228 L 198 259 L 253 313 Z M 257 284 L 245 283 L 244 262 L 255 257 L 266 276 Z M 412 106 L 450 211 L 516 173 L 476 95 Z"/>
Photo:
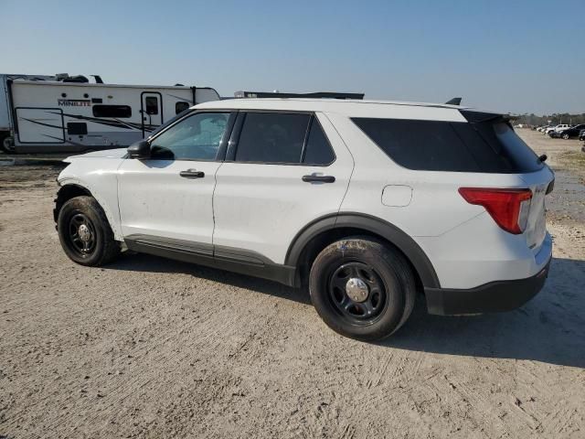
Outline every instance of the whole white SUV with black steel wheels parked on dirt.
<path id="1" fill-rule="evenodd" d="M 207 102 L 126 149 L 69 157 L 55 220 L 74 262 L 124 249 L 307 284 L 377 339 L 410 315 L 504 311 L 542 288 L 554 176 L 505 117 L 446 104 Z"/>

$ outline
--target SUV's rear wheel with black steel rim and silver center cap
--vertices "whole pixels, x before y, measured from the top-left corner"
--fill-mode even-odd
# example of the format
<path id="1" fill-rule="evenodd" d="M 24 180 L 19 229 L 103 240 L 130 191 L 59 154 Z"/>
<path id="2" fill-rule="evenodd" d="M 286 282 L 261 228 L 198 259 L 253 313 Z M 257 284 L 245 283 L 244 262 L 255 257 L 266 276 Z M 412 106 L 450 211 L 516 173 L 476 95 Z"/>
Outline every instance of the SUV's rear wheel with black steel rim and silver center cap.
<path id="1" fill-rule="evenodd" d="M 328 327 L 373 341 L 404 325 L 414 307 L 416 284 L 401 253 L 369 237 L 350 237 L 317 255 L 309 293 Z"/>

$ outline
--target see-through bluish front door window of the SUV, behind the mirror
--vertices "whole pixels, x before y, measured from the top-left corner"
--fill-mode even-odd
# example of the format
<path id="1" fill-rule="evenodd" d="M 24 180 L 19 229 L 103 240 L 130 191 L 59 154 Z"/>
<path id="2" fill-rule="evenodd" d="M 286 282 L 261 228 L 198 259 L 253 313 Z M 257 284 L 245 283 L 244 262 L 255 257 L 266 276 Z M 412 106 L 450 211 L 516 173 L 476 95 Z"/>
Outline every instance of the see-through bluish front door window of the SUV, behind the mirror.
<path id="1" fill-rule="evenodd" d="M 152 141 L 152 157 L 214 160 L 228 119 L 229 112 L 197 112 L 186 117 Z"/>

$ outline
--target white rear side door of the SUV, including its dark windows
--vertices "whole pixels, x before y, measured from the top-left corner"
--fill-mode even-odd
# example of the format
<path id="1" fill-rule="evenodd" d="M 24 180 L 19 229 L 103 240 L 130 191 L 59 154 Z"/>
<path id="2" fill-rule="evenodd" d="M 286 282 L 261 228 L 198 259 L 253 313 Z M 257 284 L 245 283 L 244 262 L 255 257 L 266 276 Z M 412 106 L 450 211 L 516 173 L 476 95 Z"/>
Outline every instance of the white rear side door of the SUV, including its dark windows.
<path id="1" fill-rule="evenodd" d="M 213 198 L 216 254 L 283 263 L 304 226 L 338 212 L 353 166 L 323 114 L 239 112 Z"/>

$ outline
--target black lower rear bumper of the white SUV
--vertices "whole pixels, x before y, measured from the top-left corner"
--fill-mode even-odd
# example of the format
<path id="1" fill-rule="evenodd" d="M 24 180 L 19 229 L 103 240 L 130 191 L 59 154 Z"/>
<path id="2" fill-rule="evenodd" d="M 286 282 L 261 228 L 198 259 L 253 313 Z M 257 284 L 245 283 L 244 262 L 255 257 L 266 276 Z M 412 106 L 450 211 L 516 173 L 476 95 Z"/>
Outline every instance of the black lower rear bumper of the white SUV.
<path id="1" fill-rule="evenodd" d="M 548 277 L 550 259 L 537 274 L 527 279 L 496 281 L 471 289 L 425 288 L 429 314 L 464 314 L 511 311 L 526 304 L 542 289 Z"/>

